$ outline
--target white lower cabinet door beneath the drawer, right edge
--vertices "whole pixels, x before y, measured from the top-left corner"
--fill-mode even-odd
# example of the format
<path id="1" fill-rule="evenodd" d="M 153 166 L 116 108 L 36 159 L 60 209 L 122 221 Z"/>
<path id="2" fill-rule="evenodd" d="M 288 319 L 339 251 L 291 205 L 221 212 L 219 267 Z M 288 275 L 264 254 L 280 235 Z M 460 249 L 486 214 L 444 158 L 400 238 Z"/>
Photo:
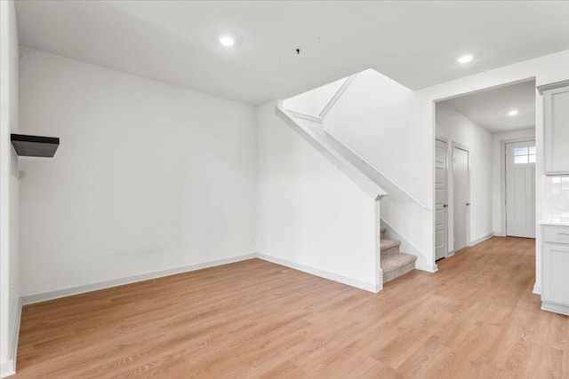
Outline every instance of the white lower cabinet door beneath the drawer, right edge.
<path id="1" fill-rule="evenodd" d="M 569 245 L 543 244 L 542 300 L 569 305 Z"/>

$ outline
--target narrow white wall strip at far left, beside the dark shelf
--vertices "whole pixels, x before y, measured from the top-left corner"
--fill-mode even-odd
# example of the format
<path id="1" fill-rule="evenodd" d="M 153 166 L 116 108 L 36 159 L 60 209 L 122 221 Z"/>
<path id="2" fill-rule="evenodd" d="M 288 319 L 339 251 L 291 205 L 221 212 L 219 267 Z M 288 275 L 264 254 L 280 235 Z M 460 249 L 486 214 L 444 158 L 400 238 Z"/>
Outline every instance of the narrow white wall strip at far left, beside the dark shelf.
<path id="1" fill-rule="evenodd" d="M 18 156 L 18 28 L 13 1 L 0 2 L 0 376 L 13 374 L 20 324 Z"/>

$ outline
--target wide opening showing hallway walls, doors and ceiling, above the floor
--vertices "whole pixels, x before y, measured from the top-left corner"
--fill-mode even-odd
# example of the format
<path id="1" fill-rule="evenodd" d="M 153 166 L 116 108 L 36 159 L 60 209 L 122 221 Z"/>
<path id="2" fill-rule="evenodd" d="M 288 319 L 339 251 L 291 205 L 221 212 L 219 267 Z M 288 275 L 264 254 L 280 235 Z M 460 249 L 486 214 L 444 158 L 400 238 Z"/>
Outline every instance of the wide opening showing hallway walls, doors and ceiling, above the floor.
<path id="1" fill-rule="evenodd" d="M 534 238 L 535 92 L 528 79 L 435 104 L 435 260 L 494 235 Z"/>

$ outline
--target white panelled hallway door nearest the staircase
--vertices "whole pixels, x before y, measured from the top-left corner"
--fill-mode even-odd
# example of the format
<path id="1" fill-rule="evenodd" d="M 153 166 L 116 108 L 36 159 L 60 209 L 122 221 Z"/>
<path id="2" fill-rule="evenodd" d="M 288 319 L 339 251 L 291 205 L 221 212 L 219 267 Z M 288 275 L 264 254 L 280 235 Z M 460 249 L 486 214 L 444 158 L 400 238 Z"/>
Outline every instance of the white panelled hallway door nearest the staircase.
<path id="1" fill-rule="evenodd" d="M 435 259 L 446 257 L 446 142 L 435 142 Z"/>

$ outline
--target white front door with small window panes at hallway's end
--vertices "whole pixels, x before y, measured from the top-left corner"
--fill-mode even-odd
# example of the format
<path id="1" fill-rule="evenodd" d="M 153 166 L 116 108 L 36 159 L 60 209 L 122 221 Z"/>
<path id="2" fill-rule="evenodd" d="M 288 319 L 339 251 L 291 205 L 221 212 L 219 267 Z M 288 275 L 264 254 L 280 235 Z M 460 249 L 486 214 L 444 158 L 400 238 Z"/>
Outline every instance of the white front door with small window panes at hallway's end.
<path id="1" fill-rule="evenodd" d="M 506 144 L 506 235 L 535 238 L 535 141 Z"/>

